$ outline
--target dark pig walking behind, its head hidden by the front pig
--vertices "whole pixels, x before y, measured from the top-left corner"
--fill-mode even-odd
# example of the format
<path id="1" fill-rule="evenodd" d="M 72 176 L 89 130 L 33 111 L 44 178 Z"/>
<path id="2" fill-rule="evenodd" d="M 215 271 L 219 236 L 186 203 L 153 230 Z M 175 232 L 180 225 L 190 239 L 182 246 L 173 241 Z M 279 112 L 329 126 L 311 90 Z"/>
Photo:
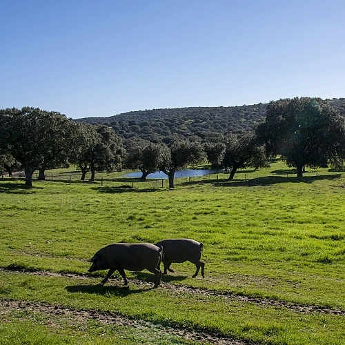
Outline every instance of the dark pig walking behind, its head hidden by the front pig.
<path id="1" fill-rule="evenodd" d="M 170 265 L 172 262 L 186 262 L 189 261 L 192 264 L 197 266 L 197 270 L 195 271 L 194 277 L 197 277 L 199 273 L 199 269 L 201 267 L 201 275 L 204 275 L 204 262 L 200 261 L 201 253 L 203 244 L 194 239 L 164 239 L 156 243 L 156 246 L 161 248 L 163 247 L 163 259 L 162 262 L 164 264 L 164 275 L 166 275 L 167 271 L 174 272 Z"/>

